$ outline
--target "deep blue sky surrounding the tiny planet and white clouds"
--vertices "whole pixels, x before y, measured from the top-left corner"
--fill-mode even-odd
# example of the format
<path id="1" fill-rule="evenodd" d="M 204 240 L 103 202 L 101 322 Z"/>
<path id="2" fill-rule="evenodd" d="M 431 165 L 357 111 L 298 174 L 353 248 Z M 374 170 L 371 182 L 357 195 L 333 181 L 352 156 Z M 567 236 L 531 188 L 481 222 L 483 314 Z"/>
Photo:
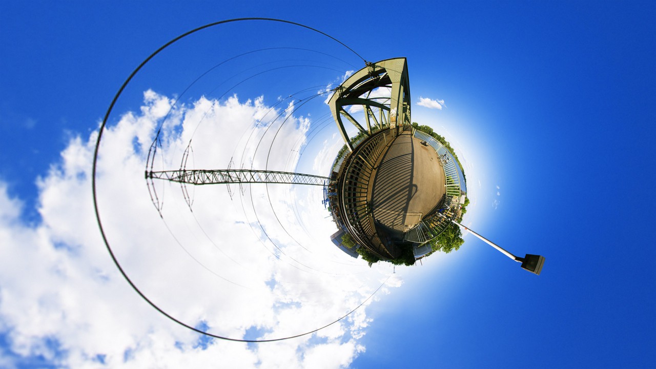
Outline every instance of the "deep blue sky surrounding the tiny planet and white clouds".
<path id="1" fill-rule="evenodd" d="M 51 176 L 49 169 L 62 163 L 60 153 L 73 147 L 74 137 L 86 140 L 97 129 L 132 70 L 180 33 L 243 16 L 312 26 L 367 60 L 407 57 L 413 121 L 434 127 L 466 161 L 473 204 L 464 223 L 516 255 L 546 257 L 543 273 L 535 276 L 466 236 L 456 253 L 430 257 L 422 267 L 398 270 L 403 285 L 367 307 L 367 317 L 373 321 L 356 340 L 365 351 L 355 350 L 357 355 L 345 365 L 653 365 L 656 5 L 648 2 L 413 2 L 403 6 L 382 2 L 372 8 L 371 3 L 340 2 L 308 6 L 300 2 L 4 1 L 0 3 L 0 181 L 10 199 L 22 202 L 20 213 L 3 213 L 3 219 L 9 219 L 3 220 L 3 232 L 19 235 L 3 238 L 11 241 L 0 245 L 5 263 L 30 255 L 18 251 L 24 247 L 19 241 L 36 238 L 20 235 L 38 228 L 44 217 L 56 215 L 37 209 L 49 209 L 55 200 L 70 202 L 75 208 L 77 196 L 58 198 L 56 192 L 46 192 L 56 182 L 45 180 Z M 235 53 L 240 48 L 277 46 L 284 38 L 276 33 L 262 35 L 247 26 L 238 31 L 220 44 L 210 36 L 199 37 L 167 54 L 165 62 L 135 81 L 121 108 L 138 110 L 140 94 L 149 87 L 173 96 L 184 81 L 188 83 L 210 65 L 205 63 L 207 51 L 203 50 L 225 48 Z M 316 41 L 310 32 L 290 32 L 296 32 L 299 44 L 339 53 L 348 58 L 345 62 L 361 68 L 357 64 L 361 60 L 344 49 Z M 348 63 L 322 60 L 337 64 L 339 70 L 348 69 Z M 183 61 L 188 70 L 176 70 Z M 334 71 L 324 75 L 318 69 L 307 72 L 312 76 L 308 79 L 328 83 L 328 76 L 336 77 Z M 159 73 L 168 77 L 158 78 Z M 210 88 L 198 85 L 194 97 Z M 242 91 L 260 93 L 255 86 L 244 86 Z M 418 106 L 419 97 L 443 99 L 446 107 Z M 316 147 L 304 153 L 302 169 L 312 170 L 308 158 L 321 152 L 324 142 L 335 142 L 330 139 L 336 131 L 332 126 L 322 131 Z M 71 150 L 68 155 L 73 155 Z M 39 177 L 42 180 L 37 182 Z M 7 204 L 14 203 L 5 202 L 5 197 L 8 209 Z M 52 240 L 75 239 L 74 230 L 47 222 L 48 229 L 58 230 Z M 89 233 L 97 233 L 94 220 L 89 225 Z M 94 255 L 92 265 L 109 262 L 98 241 L 75 246 L 100 250 L 89 254 Z M 48 251 L 48 245 L 40 247 L 46 255 L 56 254 Z M 112 265 L 105 267 L 107 278 L 116 281 L 107 293 L 127 290 Z M 12 282 L 9 273 L 0 274 L 0 355 L 4 360 L 0 363 L 67 365 L 65 353 L 21 346 L 20 332 L 30 331 L 16 326 L 25 320 L 12 315 L 8 305 L 15 297 L 12 288 L 40 290 L 41 280 L 31 280 L 31 271 L 14 274 L 25 281 L 23 285 Z M 66 293 L 58 291 L 55 288 L 41 297 L 64 301 Z M 122 293 L 130 296 L 131 291 Z M 153 318 L 155 311 L 136 296 L 126 299 L 139 307 L 137 313 L 127 315 L 127 321 L 148 316 L 148 321 L 157 320 L 157 327 L 173 324 Z M 98 309 L 119 309 L 104 304 Z M 51 326 L 49 321 L 56 314 L 50 313 L 30 311 L 26 316 Z M 73 352 L 75 340 L 66 341 L 72 332 L 59 332 L 54 326 L 51 335 Z M 85 334 L 108 338 L 95 330 Z M 140 337 L 127 328 L 121 334 Z M 168 347 L 167 341 L 153 344 L 155 357 L 177 347 L 178 338 L 198 339 L 174 328 L 166 334 L 174 337 L 173 343 Z M 61 345 L 44 339 L 46 346 Z M 239 363 L 231 346 L 221 345 L 216 355 Z M 52 351 L 54 356 L 43 354 Z M 267 357 L 264 351 L 260 359 Z M 185 355 L 200 357 L 202 353 L 190 349 Z M 75 360 L 68 365 L 86 359 Z M 102 360 L 96 357 L 96 363 Z M 144 362 L 154 365 L 140 363 Z"/>

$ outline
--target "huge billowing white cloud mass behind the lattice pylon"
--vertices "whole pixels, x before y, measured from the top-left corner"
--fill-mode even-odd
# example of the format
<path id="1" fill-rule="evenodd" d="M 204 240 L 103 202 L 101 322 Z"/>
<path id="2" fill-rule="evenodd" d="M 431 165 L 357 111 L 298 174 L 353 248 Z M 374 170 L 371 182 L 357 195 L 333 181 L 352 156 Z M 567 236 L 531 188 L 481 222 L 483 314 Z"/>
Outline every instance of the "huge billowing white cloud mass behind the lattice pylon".
<path id="1" fill-rule="evenodd" d="M 333 322 L 380 286 L 386 269 L 370 269 L 332 246 L 335 227 L 321 212 L 319 188 L 252 185 L 230 196 L 225 186 L 199 186 L 189 188 L 192 212 L 179 185 L 156 183 L 160 218 L 144 162 L 172 103 L 147 91 L 139 112 L 108 127 L 96 178 L 110 245 L 149 299 L 213 334 L 270 339 Z M 178 169 L 190 141 L 187 169 L 221 169 L 232 160 L 289 170 L 298 162 L 289 142 L 302 142 L 309 125 L 309 118 L 274 110 L 262 98 L 200 98 L 173 107 L 154 170 Z M 0 336 L 10 350 L 1 354 L 2 366 L 43 357 L 73 368 L 338 368 L 364 352 L 358 339 L 371 323 L 368 303 L 316 334 L 247 345 L 199 336 L 142 301 L 113 265 L 96 225 L 97 135 L 74 137 L 37 181 L 41 223 L 22 223 L 22 202 L 0 183 Z M 293 200 L 295 191 L 302 191 L 304 206 Z"/>

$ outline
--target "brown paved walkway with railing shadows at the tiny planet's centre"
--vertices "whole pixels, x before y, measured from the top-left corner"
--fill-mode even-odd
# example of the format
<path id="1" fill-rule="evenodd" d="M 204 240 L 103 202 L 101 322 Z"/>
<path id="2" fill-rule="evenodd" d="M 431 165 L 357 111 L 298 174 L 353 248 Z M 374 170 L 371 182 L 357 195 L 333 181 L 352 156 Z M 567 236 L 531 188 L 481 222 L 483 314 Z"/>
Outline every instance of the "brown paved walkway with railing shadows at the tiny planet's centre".
<path id="1" fill-rule="evenodd" d="M 438 154 L 421 142 L 404 131 L 376 168 L 371 207 L 376 223 L 392 237 L 415 227 L 445 194 Z"/>

